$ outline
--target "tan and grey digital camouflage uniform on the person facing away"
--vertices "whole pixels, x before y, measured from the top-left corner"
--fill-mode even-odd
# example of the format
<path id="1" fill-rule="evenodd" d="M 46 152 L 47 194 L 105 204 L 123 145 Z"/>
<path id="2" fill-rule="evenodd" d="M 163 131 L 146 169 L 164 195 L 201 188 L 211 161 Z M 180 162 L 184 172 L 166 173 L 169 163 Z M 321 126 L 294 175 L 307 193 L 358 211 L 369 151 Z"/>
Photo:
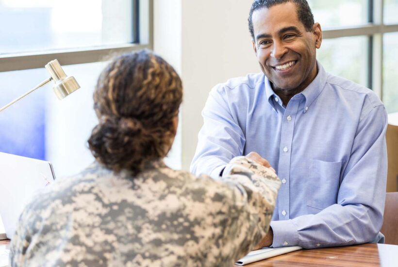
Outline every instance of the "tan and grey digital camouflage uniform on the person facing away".
<path id="1" fill-rule="evenodd" d="M 244 157 L 222 182 L 156 161 L 137 177 L 94 163 L 22 213 L 11 266 L 232 266 L 266 234 L 279 178 Z"/>

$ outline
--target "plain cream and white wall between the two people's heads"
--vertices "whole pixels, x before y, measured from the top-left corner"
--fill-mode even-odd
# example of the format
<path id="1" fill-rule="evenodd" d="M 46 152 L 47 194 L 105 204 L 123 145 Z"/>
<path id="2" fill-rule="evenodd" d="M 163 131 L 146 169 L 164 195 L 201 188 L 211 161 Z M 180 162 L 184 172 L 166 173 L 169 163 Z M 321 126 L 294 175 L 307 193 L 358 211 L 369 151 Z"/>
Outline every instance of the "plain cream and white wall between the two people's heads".
<path id="1" fill-rule="evenodd" d="M 211 88 L 259 72 L 247 18 L 252 0 L 154 0 L 154 51 L 180 73 L 181 162 L 189 169 Z"/>

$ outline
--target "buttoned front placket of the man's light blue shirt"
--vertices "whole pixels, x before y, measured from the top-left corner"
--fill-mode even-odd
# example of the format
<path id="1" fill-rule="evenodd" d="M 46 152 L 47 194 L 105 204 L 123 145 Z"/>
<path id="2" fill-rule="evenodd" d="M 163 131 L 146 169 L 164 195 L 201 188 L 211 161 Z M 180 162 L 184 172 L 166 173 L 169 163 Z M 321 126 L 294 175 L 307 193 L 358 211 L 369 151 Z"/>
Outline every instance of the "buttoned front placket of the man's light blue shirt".
<path id="1" fill-rule="evenodd" d="M 290 218 L 290 159 L 298 105 L 298 100 L 291 99 L 285 109 L 282 119 L 278 166 L 278 176 L 282 182 L 278 193 L 278 211 L 280 220 L 288 220 Z"/>

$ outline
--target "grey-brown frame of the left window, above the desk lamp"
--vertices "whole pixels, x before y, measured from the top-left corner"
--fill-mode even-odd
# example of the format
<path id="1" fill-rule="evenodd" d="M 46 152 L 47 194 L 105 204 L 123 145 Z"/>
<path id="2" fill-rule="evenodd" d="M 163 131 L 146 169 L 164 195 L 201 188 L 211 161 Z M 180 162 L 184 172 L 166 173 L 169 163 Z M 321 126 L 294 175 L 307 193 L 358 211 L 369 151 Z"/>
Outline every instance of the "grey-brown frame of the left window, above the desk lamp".
<path id="1" fill-rule="evenodd" d="M 0 55 L 0 72 L 44 67 L 53 59 L 61 65 L 109 60 L 110 56 L 133 50 L 153 49 L 153 0 L 131 0 L 133 6 L 133 42 L 117 46 L 45 50 Z"/>

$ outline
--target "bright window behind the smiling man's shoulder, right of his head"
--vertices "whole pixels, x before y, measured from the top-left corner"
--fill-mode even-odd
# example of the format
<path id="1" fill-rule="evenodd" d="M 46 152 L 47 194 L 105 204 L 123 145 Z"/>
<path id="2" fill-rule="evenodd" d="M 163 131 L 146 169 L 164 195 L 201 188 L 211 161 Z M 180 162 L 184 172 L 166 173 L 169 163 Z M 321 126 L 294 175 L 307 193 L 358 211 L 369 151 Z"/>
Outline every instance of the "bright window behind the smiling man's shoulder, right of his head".
<path id="1" fill-rule="evenodd" d="M 398 0 L 308 0 L 323 29 L 317 51 L 327 71 L 371 88 L 398 112 Z"/>

